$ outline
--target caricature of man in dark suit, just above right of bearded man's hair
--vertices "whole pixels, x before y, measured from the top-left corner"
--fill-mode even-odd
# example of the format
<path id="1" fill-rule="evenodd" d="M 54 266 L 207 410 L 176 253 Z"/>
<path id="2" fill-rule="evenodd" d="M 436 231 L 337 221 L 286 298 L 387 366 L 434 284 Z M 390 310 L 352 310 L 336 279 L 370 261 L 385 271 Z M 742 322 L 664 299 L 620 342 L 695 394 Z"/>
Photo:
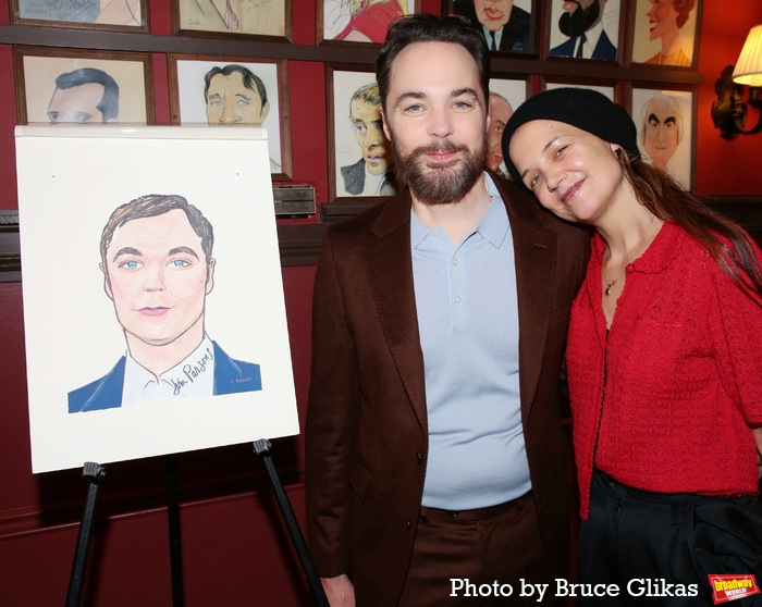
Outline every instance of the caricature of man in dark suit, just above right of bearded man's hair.
<path id="1" fill-rule="evenodd" d="M 443 0 L 442 13 L 465 16 L 480 25 L 492 52 L 537 54 L 537 29 L 540 2 L 537 0 L 503 0 L 492 4 L 497 16 L 476 7 L 474 0 Z"/>

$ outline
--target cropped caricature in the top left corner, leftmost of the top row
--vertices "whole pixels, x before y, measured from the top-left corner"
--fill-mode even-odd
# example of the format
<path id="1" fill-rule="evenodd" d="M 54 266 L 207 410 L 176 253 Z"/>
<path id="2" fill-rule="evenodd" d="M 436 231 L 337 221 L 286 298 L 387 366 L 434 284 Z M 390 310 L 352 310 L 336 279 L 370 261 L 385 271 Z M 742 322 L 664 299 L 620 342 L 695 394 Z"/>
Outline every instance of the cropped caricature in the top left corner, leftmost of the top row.
<path id="1" fill-rule="evenodd" d="M 148 0 L 11 0 L 11 23 L 148 33 Z"/>

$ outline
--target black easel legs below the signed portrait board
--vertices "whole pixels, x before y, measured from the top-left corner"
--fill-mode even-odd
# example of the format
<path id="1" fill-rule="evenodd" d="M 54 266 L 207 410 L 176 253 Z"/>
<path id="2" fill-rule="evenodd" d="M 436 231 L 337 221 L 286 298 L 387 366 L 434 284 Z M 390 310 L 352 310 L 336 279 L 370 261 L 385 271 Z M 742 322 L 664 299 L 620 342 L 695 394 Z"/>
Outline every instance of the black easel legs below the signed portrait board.
<path id="1" fill-rule="evenodd" d="M 299 523 L 294 515 L 294 509 L 291 506 L 288 496 L 283 487 L 283 483 L 272 462 L 270 451 L 272 445 L 267 439 L 254 442 L 254 451 L 262 459 L 267 468 L 270 481 L 275 491 L 278 506 L 283 516 L 283 520 L 288 529 L 288 535 L 294 544 L 296 554 L 299 557 L 302 567 L 307 575 L 307 581 L 312 590 L 318 607 L 329 607 L 328 598 L 323 592 L 320 579 L 318 578 L 312 560 L 310 559 L 307 545 L 299 529 Z M 69 592 L 66 594 L 66 607 L 79 607 L 82 599 L 82 587 L 85 579 L 85 568 L 87 565 L 87 555 L 90 547 L 90 534 L 93 530 L 93 518 L 95 515 L 95 505 L 98 498 L 98 487 L 100 481 L 106 475 L 106 468 L 99 463 L 88 461 L 85 463 L 82 472 L 83 478 L 89 483 L 87 490 L 87 498 L 85 501 L 85 510 L 79 524 L 79 534 L 77 536 L 76 548 L 74 550 L 74 563 L 72 566 L 72 575 L 69 581 Z M 182 568 L 182 550 L 180 546 L 180 500 L 177 497 L 177 468 L 173 455 L 167 456 L 167 476 L 168 476 L 168 517 L 170 531 L 170 560 L 172 567 L 172 605 L 173 607 L 183 607 L 185 597 L 183 592 L 183 568 Z"/>

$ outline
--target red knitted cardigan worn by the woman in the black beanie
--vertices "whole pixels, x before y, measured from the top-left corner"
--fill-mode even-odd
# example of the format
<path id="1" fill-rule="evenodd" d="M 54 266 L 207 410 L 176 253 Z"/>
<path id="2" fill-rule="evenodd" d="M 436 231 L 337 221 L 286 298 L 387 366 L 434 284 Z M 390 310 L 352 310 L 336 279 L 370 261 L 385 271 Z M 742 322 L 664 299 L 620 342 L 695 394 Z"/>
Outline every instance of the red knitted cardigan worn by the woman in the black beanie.
<path id="1" fill-rule="evenodd" d="M 566 355 L 582 518 L 593 462 L 656 493 L 755 494 L 749 425 L 762 424 L 762 300 L 665 223 L 627 267 L 606 335 L 603 250 L 595 235 Z"/>

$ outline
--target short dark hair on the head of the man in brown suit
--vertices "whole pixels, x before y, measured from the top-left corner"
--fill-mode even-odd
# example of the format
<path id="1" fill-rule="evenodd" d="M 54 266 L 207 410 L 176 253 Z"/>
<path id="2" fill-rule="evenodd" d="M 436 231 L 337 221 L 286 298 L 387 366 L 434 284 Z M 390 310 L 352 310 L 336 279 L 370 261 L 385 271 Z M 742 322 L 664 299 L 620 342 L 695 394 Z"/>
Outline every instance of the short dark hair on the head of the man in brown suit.
<path id="1" fill-rule="evenodd" d="M 484 35 L 465 17 L 457 15 L 439 17 L 420 13 L 400 17 L 389 26 L 386 40 L 376 60 L 376 82 L 379 83 L 384 111 L 392 64 L 397 54 L 414 42 L 451 42 L 465 48 L 477 64 L 484 102 L 489 102 L 490 51 Z"/>

